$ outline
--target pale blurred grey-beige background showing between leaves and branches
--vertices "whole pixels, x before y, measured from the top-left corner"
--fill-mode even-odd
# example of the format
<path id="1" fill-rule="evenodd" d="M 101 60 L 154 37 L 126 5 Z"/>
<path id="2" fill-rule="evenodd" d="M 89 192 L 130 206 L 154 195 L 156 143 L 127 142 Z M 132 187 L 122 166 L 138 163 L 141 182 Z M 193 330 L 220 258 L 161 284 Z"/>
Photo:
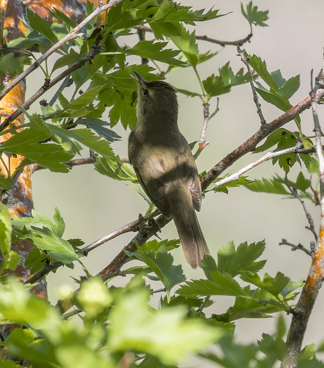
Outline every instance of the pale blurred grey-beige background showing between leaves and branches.
<path id="1" fill-rule="evenodd" d="M 199 6 L 197 7 L 197 3 Z M 244 6 L 248 1 L 243 1 Z M 194 9 L 211 8 L 220 9 L 220 14 L 233 12 L 216 20 L 197 24 L 197 35 L 208 35 L 211 38 L 222 40 L 237 40 L 244 38 L 249 33 L 249 24 L 241 14 L 240 1 L 194 1 L 186 0 L 182 4 L 191 5 Z M 280 69 L 282 76 L 289 79 L 300 74 L 300 88 L 291 98 L 292 105 L 305 99 L 310 91 L 310 71 L 314 69 L 317 75 L 322 64 L 324 45 L 324 2 L 313 0 L 305 3 L 300 0 L 255 0 L 254 5 L 259 10 L 269 10 L 270 19 L 266 22 L 269 27 L 253 26 L 251 43 L 245 44 L 245 49 L 250 54 L 256 54 L 266 60 L 269 71 Z M 119 39 L 119 43 L 132 44 L 132 40 Z M 198 41 L 199 50 L 222 50 L 222 47 L 205 41 Z M 174 45 L 170 42 L 170 47 Z M 210 74 L 217 74 L 218 68 L 230 61 L 234 72 L 237 72 L 243 63 L 238 57 L 235 46 L 226 46 L 216 57 L 204 64 L 198 65 L 198 71 L 202 79 Z M 134 63 L 140 63 L 140 58 L 134 58 Z M 54 58 L 52 60 L 54 63 Z M 178 88 L 199 92 L 198 81 L 191 68 L 176 70 L 167 75 L 167 82 Z M 27 94 L 37 90 L 43 83 L 43 77 L 36 79 L 32 74 L 27 79 Z M 47 93 L 48 100 L 54 91 Z M 68 92 L 65 92 L 68 95 Z M 264 117 L 268 122 L 280 116 L 282 112 L 272 105 L 266 104 L 260 98 Z M 199 98 L 187 98 L 179 94 L 179 127 L 188 142 L 199 139 L 203 112 Z M 210 111 L 215 110 L 216 99 L 210 101 Z M 260 121 L 252 100 L 251 88 L 248 84 L 234 87 L 233 90 L 220 96 L 220 111 L 210 120 L 206 139 L 209 146 L 201 153 L 197 160 L 198 171 L 210 170 L 229 152 L 242 144 L 256 130 Z M 33 107 L 36 111 L 37 105 Z M 320 122 L 324 126 L 323 107 L 319 107 Z M 108 112 L 103 116 L 108 119 Z M 312 135 L 313 118 L 310 110 L 302 115 L 302 127 L 304 134 Z M 285 125 L 295 131 L 293 122 Z M 115 130 L 122 135 L 123 141 L 113 144 L 113 148 L 120 157 L 127 157 L 127 137 L 129 130 L 125 132 L 121 125 Z M 85 150 L 84 150 L 85 151 Z M 87 152 L 84 152 L 84 156 Z M 236 171 L 246 164 L 251 163 L 261 155 L 247 154 L 236 162 L 231 171 Z M 298 164 L 291 170 L 289 177 L 294 180 L 300 171 Z M 249 171 L 251 179 L 270 177 L 278 173 L 283 175 L 280 168 L 273 166 L 271 162 L 262 164 Z M 146 202 L 125 182 L 114 181 L 101 176 L 91 166 L 81 166 L 72 169 L 69 174 L 50 173 L 47 170 L 36 172 L 33 176 L 33 196 L 35 209 L 52 217 L 54 208 L 58 207 L 66 224 L 65 239 L 81 238 L 86 244 L 101 238 L 102 236 L 132 222 L 138 217 L 138 213 L 144 214 Z M 318 229 L 320 218 L 319 208 L 314 208 L 310 202 L 306 202 Z M 199 213 L 199 221 L 204 231 L 211 254 L 216 257 L 217 250 L 229 241 L 233 240 L 236 247 L 245 241 L 253 243 L 265 239 L 266 251 L 261 259 L 268 259 L 266 266 L 260 272 L 275 276 L 278 271 L 285 273 L 294 281 L 307 277 L 310 258 L 300 251 L 291 252 L 286 246 L 279 246 L 282 238 L 291 243 L 302 243 L 306 247 L 313 240 L 310 231 L 305 229 L 308 225 L 302 206 L 297 200 L 282 199 L 279 195 L 259 194 L 246 188 L 230 189 L 229 195 L 209 192 L 202 203 Z M 100 272 L 116 254 L 125 246 L 134 233 L 124 234 L 109 243 L 102 245 L 90 252 L 83 262 L 93 274 Z M 160 236 L 163 239 L 177 238 L 176 228 L 172 223 L 162 229 Z M 175 264 L 181 263 L 184 273 L 188 278 L 199 279 L 203 277 L 202 270 L 192 270 L 184 259 L 181 248 L 172 252 Z M 77 289 L 77 284 L 69 276 L 79 277 L 82 270 L 76 266 L 74 270 L 60 268 L 55 275 L 47 278 L 50 300 L 54 304 L 57 301 L 57 290 L 62 285 L 70 285 L 72 290 Z M 112 284 L 124 285 L 128 278 L 118 277 Z M 158 289 L 159 286 L 155 285 Z M 158 300 L 159 296 L 156 298 Z M 214 297 L 217 302 L 206 310 L 206 313 L 224 313 L 233 305 L 234 298 Z M 320 292 L 313 314 L 309 320 L 304 345 L 312 342 L 317 344 L 324 339 L 322 310 L 324 293 Z M 291 317 L 286 321 L 290 323 Z M 320 325 L 318 323 L 320 321 Z M 237 340 L 244 343 L 256 342 L 261 339 L 262 333 L 272 333 L 276 318 L 269 319 L 245 319 L 236 321 Z M 199 363 L 200 367 L 215 367 Z M 194 361 L 188 361 L 184 367 L 194 367 Z"/>

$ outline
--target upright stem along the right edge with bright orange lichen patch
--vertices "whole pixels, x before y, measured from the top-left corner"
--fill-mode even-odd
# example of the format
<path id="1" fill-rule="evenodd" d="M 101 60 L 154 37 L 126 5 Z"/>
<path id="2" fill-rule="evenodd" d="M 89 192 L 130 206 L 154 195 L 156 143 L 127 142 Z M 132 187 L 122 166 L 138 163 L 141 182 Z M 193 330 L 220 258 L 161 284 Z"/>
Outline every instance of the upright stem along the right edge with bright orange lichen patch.
<path id="1" fill-rule="evenodd" d="M 300 298 L 294 308 L 291 325 L 287 336 L 287 352 L 282 359 L 281 368 L 295 368 L 297 359 L 303 343 L 303 338 L 307 328 L 307 323 L 312 313 L 318 292 L 324 279 L 324 157 L 321 144 L 320 123 L 317 114 L 317 103 L 319 101 L 318 90 L 324 87 L 324 57 L 323 67 L 315 79 L 315 86 L 311 93 L 311 105 L 314 120 L 315 148 L 318 156 L 320 171 L 320 203 L 321 203 L 321 222 L 320 231 L 316 247 L 313 250 L 312 265 L 310 266 L 305 285 L 300 294 Z"/>

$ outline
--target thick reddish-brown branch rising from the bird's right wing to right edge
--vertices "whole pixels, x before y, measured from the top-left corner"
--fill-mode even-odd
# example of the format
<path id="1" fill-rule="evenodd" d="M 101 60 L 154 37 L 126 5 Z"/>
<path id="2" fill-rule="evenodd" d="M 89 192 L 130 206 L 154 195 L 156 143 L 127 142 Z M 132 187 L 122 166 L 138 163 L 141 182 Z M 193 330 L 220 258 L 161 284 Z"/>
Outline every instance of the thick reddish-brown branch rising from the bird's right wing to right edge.
<path id="1" fill-rule="evenodd" d="M 316 91 L 316 98 L 321 99 L 324 97 L 324 88 Z M 266 124 L 265 127 L 261 127 L 255 134 L 242 143 L 239 147 L 234 149 L 233 152 L 229 153 L 219 163 L 217 163 L 209 172 L 202 178 L 201 187 L 205 190 L 210 183 L 212 183 L 217 176 L 219 176 L 227 167 L 230 167 L 235 161 L 244 156 L 246 153 L 254 151 L 256 146 L 266 138 L 274 130 L 282 127 L 282 125 L 293 120 L 297 115 L 309 109 L 311 106 L 312 98 L 308 96 L 305 100 L 299 102 L 296 106 L 283 113 L 281 116 Z"/>

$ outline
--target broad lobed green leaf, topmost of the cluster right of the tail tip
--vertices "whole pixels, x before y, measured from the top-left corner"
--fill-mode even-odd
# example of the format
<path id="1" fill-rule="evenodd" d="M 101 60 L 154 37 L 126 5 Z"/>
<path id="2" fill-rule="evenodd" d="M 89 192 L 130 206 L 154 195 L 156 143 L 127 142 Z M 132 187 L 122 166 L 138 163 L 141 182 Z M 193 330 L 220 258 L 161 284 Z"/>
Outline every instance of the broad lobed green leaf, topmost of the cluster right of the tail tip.
<path id="1" fill-rule="evenodd" d="M 265 247 L 264 241 L 249 245 L 245 242 L 235 250 L 234 242 L 231 241 L 217 252 L 218 270 L 227 272 L 233 277 L 244 271 L 258 272 L 266 261 L 255 262 L 255 260 L 263 254 Z"/>

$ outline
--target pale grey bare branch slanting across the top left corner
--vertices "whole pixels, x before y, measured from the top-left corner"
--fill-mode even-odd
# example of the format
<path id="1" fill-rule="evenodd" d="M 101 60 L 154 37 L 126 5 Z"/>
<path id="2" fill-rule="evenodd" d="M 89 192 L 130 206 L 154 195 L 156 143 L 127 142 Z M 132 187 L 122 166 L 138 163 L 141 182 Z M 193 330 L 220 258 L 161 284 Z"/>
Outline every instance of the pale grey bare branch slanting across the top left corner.
<path id="1" fill-rule="evenodd" d="M 55 43 L 50 49 L 48 49 L 39 59 L 35 61 L 29 68 L 19 74 L 12 82 L 10 82 L 0 93 L 0 100 L 11 91 L 14 86 L 16 86 L 19 82 L 27 77 L 32 71 L 37 69 L 40 64 L 43 63 L 44 60 L 48 58 L 51 54 L 53 54 L 56 50 L 58 50 L 61 46 L 63 46 L 66 42 L 72 40 L 73 38 L 78 37 L 78 34 L 81 32 L 82 28 L 86 26 L 90 21 L 97 17 L 100 13 L 108 10 L 109 8 L 122 3 L 125 0 L 110 0 L 108 4 L 97 7 L 88 17 L 86 17 L 82 22 L 80 22 L 71 32 L 69 32 L 66 36 L 64 36 L 60 41 Z"/>

